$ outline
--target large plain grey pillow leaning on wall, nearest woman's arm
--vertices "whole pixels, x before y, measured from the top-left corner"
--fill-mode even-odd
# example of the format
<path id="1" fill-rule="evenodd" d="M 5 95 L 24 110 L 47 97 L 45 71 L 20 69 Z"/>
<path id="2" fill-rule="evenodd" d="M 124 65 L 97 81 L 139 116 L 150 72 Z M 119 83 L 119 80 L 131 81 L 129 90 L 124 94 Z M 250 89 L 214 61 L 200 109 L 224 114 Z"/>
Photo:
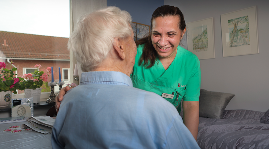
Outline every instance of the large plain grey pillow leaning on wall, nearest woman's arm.
<path id="1" fill-rule="evenodd" d="M 223 119 L 223 112 L 234 94 L 200 90 L 199 116 Z"/>

